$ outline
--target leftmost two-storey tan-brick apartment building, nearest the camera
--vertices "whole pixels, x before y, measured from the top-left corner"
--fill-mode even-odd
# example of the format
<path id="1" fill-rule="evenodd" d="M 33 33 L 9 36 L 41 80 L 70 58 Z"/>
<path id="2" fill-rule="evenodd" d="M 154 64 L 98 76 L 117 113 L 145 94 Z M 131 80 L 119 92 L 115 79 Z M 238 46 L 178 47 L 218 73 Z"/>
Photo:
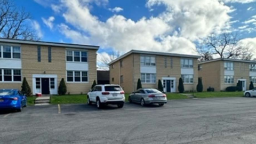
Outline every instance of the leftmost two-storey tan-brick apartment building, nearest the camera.
<path id="1" fill-rule="evenodd" d="M 97 81 L 99 46 L 0 38 L 0 89 L 21 89 L 26 77 L 33 94 L 87 93 Z"/>

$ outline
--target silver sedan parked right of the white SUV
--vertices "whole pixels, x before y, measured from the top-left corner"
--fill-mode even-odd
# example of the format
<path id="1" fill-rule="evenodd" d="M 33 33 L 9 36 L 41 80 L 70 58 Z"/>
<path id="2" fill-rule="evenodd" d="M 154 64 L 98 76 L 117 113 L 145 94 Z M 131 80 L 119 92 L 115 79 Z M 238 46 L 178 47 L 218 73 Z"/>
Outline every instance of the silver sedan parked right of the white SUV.
<path id="1" fill-rule="evenodd" d="M 129 102 L 140 103 L 141 106 L 157 103 L 164 106 L 167 103 L 166 94 L 156 89 L 139 89 L 129 95 Z"/>

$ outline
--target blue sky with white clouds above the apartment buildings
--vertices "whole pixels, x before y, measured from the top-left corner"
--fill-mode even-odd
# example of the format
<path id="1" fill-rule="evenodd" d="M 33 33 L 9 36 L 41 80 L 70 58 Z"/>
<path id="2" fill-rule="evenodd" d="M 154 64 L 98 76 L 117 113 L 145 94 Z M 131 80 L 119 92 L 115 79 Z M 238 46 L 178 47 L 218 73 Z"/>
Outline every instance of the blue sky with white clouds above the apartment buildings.
<path id="1" fill-rule="evenodd" d="M 256 0 L 15 0 L 42 41 L 197 54 L 212 33 L 236 31 L 256 54 Z"/>

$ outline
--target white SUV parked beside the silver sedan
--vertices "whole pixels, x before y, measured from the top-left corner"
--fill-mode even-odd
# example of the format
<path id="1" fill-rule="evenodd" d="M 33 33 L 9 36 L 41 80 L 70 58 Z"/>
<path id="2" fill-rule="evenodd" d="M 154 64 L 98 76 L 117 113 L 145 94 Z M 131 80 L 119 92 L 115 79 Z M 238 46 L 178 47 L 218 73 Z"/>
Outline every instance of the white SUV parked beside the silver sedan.
<path id="1" fill-rule="evenodd" d="M 104 105 L 117 105 L 122 108 L 125 102 L 124 91 L 119 85 L 96 85 L 87 94 L 87 104 L 97 104 L 100 109 Z"/>

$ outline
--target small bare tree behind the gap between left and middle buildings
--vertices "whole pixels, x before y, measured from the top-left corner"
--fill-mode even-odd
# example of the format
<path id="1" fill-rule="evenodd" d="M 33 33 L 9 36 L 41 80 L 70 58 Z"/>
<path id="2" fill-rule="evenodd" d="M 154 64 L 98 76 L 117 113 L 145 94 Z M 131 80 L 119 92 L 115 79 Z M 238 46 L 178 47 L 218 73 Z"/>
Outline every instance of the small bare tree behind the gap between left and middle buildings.
<path id="1" fill-rule="evenodd" d="M 98 67 L 103 70 L 108 70 L 108 63 L 120 57 L 120 52 L 118 51 L 111 51 L 108 54 L 101 54 L 98 57 Z"/>

